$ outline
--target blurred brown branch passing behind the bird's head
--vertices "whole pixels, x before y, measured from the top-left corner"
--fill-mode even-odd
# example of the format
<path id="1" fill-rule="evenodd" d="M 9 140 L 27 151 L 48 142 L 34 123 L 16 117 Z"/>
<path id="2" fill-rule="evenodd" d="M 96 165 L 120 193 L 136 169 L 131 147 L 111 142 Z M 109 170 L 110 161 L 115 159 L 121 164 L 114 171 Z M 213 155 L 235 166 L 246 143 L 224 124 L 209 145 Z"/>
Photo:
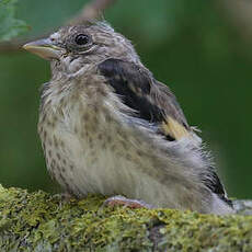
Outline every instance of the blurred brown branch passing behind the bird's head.
<path id="1" fill-rule="evenodd" d="M 116 0 L 92 0 L 89 3 L 84 4 L 83 9 L 81 10 L 80 14 L 73 16 L 67 24 L 76 25 L 81 24 L 90 20 L 99 19 L 102 13 L 110 8 Z M 0 53 L 16 53 L 22 49 L 22 46 L 30 42 L 36 41 L 42 37 L 47 36 L 49 33 L 44 34 L 39 37 L 34 38 L 24 38 L 24 39 L 13 39 L 12 42 L 4 42 L 0 43 Z"/>

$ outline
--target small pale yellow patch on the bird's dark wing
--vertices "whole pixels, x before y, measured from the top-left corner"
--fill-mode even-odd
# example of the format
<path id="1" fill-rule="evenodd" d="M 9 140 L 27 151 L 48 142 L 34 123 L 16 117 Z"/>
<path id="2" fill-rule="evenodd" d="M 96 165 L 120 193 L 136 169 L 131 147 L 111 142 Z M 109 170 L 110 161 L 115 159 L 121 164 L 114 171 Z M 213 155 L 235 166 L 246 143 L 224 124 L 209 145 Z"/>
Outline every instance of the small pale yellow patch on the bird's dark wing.
<path id="1" fill-rule="evenodd" d="M 168 117 L 167 122 L 163 122 L 161 127 L 165 135 L 169 135 L 176 140 L 190 135 L 190 131 L 183 125 L 171 117 Z"/>

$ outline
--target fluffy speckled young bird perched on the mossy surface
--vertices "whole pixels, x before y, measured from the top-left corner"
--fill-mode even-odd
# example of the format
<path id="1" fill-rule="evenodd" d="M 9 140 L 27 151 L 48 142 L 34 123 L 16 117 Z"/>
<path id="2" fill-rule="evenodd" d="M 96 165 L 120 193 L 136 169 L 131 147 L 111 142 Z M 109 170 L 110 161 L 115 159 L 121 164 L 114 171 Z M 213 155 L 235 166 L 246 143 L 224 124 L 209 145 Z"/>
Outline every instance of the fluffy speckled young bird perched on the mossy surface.
<path id="1" fill-rule="evenodd" d="M 233 213 L 211 154 L 175 95 L 107 22 L 64 26 L 23 48 L 50 61 L 37 129 L 49 174 L 65 192 Z"/>

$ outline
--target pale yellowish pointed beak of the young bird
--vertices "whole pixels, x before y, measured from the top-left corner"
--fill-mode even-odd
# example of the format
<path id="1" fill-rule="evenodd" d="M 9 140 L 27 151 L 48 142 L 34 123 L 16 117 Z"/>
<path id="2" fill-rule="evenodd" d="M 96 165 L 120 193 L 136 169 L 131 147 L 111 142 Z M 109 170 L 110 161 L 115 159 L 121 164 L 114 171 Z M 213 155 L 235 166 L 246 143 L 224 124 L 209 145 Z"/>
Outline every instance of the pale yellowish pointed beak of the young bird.
<path id="1" fill-rule="evenodd" d="M 23 48 L 44 59 L 58 59 L 60 50 L 62 50 L 62 48 L 55 46 L 49 38 L 30 42 Z"/>

